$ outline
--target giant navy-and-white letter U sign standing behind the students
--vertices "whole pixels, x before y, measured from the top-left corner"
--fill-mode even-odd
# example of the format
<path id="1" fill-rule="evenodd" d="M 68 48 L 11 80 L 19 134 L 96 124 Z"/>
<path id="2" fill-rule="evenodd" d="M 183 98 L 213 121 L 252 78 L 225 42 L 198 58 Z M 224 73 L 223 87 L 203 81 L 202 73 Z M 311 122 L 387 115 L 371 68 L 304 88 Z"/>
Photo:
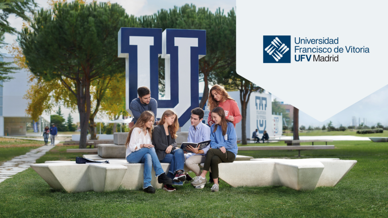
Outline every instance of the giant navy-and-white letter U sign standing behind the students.
<path id="1" fill-rule="evenodd" d="M 199 59 L 206 56 L 206 30 L 120 28 L 118 57 L 125 58 L 126 110 L 147 86 L 158 101 L 157 117 L 174 110 L 183 126 L 199 106 Z M 165 60 L 165 99 L 159 100 L 159 57 Z"/>

